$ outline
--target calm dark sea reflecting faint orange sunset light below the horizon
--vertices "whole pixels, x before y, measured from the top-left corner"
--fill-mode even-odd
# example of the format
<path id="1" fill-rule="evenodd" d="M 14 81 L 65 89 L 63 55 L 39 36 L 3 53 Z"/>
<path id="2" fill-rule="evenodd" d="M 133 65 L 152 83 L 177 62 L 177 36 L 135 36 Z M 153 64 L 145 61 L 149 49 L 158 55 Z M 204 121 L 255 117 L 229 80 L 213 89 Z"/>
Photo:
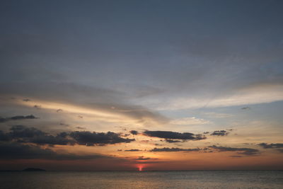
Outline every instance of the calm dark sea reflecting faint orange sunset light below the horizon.
<path id="1" fill-rule="evenodd" d="M 283 171 L 0 172 L 0 188 L 283 188 Z"/>

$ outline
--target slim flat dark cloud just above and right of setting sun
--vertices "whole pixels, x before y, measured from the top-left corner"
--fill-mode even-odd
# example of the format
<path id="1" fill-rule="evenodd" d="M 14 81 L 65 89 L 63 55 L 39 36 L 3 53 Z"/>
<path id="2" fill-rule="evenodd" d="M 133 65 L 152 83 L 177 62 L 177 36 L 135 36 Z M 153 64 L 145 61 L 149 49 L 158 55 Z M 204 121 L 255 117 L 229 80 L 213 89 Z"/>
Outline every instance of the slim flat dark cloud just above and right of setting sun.
<path id="1" fill-rule="evenodd" d="M 192 134 L 190 132 L 171 132 L 171 131 L 149 131 L 144 132 L 146 136 L 158 137 L 163 139 L 183 139 L 183 140 L 200 140 L 206 139 L 202 134 Z"/>

